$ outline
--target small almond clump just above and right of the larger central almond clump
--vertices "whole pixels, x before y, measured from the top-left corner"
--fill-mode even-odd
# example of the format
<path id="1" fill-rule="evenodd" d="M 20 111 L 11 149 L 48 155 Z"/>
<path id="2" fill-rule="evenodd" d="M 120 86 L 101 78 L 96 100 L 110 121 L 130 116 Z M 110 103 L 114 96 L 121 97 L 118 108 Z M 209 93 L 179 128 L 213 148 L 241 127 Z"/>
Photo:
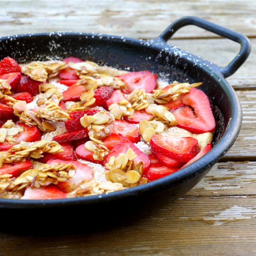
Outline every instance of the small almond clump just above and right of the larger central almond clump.
<path id="1" fill-rule="evenodd" d="M 134 109 L 128 100 L 113 103 L 108 107 L 108 110 L 115 116 L 115 119 L 121 119 L 123 116 L 133 118 Z"/>

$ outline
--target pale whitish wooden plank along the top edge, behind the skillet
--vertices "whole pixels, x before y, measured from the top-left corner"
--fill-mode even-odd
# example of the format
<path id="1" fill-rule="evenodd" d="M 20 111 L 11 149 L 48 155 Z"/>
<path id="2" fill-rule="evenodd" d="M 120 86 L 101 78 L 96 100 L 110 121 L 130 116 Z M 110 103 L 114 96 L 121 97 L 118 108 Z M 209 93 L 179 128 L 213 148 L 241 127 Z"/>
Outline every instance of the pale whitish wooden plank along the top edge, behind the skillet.
<path id="1" fill-rule="evenodd" d="M 132 38 L 155 38 L 170 23 L 194 15 L 256 36 L 254 0 L 1 0 L 0 36 L 46 31 L 95 32 Z M 216 37 L 186 27 L 176 38 Z"/>

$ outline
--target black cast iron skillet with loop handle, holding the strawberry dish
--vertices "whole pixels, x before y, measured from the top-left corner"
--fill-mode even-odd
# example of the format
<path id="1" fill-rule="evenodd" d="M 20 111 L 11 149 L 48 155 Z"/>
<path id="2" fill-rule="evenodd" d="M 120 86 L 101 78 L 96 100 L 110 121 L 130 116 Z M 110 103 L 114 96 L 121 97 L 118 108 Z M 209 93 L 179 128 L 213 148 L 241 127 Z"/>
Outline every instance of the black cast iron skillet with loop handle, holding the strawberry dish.
<path id="1" fill-rule="evenodd" d="M 239 54 L 227 67 L 219 67 L 193 54 L 167 44 L 181 27 L 195 25 L 241 45 Z M 2 215 L 20 215 L 25 221 L 39 216 L 68 218 L 72 223 L 84 217 L 86 225 L 95 219 L 109 222 L 149 212 L 165 202 L 172 202 L 193 188 L 232 146 L 239 133 L 242 110 L 236 94 L 225 80 L 247 59 L 250 44 L 247 37 L 196 17 L 184 17 L 171 24 L 154 40 L 135 40 L 120 36 L 83 33 L 46 33 L 4 37 L 0 39 L 0 59 L 11 56 L 17 61 L 46 60 L 48 57 L 77 56 L 130 70 L 148 69 L 169 81 L 202 81 L 200 87 L 209 97 L 216 119 L 214 148 L 188 167 L 133 189 L 108 195 L 93 195 L 60 200 L 0 199 Z M 67 211 L 72 210 L 70 216 Z M 26 214 L 26 217 L 25 215 Z M 24 219 L 25 218 L 25 219 Z M 92 220 L 88 223 L 88 220 Z M 54 221 L 54 220 L 53 220 Z M 26 221 L 25 221 L 26 222 Z M 69 223 L 70 223 L 69 222 Z M 97 222 L 98 223 L 98 222 Z M 66 223 L 67 224 L 67 223 Z"/>

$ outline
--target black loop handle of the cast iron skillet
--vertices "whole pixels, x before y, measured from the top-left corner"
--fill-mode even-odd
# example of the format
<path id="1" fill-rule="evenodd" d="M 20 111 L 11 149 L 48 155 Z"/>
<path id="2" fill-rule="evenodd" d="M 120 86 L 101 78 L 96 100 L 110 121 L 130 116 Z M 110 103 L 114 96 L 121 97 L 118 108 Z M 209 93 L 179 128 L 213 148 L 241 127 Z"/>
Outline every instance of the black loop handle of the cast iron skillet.
<path id="1" fill-rule="evenodd" d="M 218 34 L 222 37 L 228 38 L 240 44 L 240 51 L 236 57 L 229 63 L 227 67 L 218 67 L 219 72 L 225 77 L 229 77 L 234 74 L 236 70 L 241 67 L 243 62 L 247 59 L 250 53 L 250 42 L 249 39 L 243 34 L 239 34 L 235 31 L 229 30 L 228 28 L 221 27 L 207 20 L 201 18 L 186 16 L 173 22 L 165 31 L 158 37 L 165 42 L 170 39 L 173 34 L 180 28 L 188 25 L 195 25 L 208 30 L 212 33 Z"/>

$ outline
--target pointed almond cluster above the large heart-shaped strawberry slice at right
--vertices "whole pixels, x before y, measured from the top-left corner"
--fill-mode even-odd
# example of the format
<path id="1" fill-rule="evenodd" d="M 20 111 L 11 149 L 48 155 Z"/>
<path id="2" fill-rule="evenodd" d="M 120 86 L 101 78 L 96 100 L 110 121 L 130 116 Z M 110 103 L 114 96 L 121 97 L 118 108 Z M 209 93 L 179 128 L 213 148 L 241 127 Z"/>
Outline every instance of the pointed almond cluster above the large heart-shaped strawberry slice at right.
<path id="1" fill-rule="evenodd" d="M 167 92 L 165 92 L 163 90 L 153 90 L 152 97 L 154 98 L 154 100 L 157 103 L 165 104 L 170 101 L 175 101 L 182 94 L 189 93 L 190 88 L 198 87 L 198 86 L 202 85 L 202 83 L 189 84 L 189 83 L 175 82 L 170 85 L 172 87 L 169 88 Z"/>

